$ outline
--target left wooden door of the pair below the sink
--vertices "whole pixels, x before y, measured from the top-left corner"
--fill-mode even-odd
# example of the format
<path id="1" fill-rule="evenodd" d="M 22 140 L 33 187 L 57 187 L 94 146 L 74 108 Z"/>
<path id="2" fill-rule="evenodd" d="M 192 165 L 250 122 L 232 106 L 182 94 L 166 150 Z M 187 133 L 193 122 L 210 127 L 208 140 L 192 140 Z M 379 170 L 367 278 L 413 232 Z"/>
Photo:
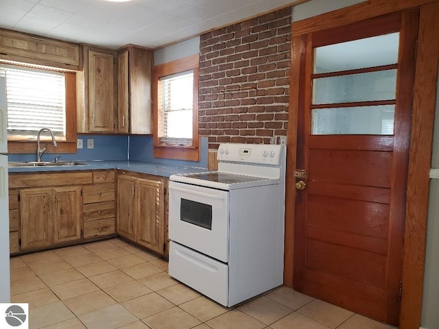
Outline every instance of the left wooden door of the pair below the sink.
<path id="1" fill-rule="evenodd" d="M 21 249 L 45 247 L 53 243 L 51 188 L 20 191 Z"/>

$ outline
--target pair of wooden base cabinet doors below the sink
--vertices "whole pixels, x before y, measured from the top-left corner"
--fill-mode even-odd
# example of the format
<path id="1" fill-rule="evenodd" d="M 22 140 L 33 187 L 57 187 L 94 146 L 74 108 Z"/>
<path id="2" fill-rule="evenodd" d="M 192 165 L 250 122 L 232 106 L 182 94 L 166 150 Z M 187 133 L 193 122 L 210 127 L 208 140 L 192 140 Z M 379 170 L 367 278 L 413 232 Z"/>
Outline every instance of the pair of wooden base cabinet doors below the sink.
<path id="1" fill-rule="evenodd" d="M 21 190 L 21 249 L 80 240 L 81 195 L 81 186 Z"/>

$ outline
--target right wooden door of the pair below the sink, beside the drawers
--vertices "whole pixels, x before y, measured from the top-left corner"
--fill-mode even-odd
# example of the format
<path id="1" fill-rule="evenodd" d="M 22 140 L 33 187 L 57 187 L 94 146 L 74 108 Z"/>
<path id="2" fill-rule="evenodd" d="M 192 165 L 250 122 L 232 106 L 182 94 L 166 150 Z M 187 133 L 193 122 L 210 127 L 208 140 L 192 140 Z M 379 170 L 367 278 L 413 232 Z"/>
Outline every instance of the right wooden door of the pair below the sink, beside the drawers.
<path id="1" fill-rule="evenodd" d="M 81 186 L 54 188 L 54 243 L 81 239 Z"/>

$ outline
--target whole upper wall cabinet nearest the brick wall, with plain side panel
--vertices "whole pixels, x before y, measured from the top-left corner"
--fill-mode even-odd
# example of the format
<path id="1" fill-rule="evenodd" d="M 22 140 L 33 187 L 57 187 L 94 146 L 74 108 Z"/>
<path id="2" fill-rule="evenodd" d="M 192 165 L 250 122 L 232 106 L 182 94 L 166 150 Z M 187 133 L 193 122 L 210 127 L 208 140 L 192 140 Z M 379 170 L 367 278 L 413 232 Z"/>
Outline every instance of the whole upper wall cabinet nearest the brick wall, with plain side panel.
<path id="1" fill-rule="evenodd" d="M 153 53 L 129 46 L 119 51 L 118 132 L 151 134 L 151 70 Z"/>

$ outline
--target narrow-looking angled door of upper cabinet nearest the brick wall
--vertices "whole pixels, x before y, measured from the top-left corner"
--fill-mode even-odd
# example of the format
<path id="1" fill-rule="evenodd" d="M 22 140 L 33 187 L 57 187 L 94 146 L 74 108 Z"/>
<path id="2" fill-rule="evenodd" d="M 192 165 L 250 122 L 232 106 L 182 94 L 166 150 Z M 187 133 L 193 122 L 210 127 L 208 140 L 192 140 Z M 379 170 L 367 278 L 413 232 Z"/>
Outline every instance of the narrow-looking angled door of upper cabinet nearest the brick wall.
<path id="1" fill-rule="evenodd" d="M 117 56 L 117 131 L 124 133 L 129 132 L 128 111 L 130 108 L 130 94 L 128 85 L 128 55 L 128 50 L 126 50 Z"/>

